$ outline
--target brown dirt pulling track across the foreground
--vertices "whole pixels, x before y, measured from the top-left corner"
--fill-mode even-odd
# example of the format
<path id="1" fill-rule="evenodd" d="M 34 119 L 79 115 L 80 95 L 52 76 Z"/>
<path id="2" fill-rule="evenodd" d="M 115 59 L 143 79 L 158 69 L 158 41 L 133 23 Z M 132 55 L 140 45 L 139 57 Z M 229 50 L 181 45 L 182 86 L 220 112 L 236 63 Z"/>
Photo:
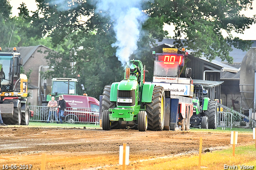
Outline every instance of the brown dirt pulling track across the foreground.
<path id="1" fill-rule="evenodd" d="M 230 133 L 214 131 L 0 127 L 0 169 L 6 164 L 32 164 L 32 170 L 40 169 L 43 153 L 48 170 L 122 169 L 119 146 L 126 143 L 130 146 L 126 170 L 137 170 L 143 166 L 142 160 L 198 153 L 201 136 L 203 150 L 231 147 Z M 238 146 L 253 144 L 251 138 L 239 134 Z"/>

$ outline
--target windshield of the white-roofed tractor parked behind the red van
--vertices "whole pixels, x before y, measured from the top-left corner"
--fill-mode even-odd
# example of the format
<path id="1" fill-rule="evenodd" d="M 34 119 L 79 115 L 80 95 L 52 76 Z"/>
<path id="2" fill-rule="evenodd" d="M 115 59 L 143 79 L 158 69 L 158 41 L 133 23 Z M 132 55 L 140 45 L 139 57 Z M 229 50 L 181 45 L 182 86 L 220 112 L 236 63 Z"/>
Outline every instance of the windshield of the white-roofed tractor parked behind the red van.
<path id="1" fill-rule="evenodd" d="M 52 83 L 52 93 L 58 94 L 76 94 L 75 82 L 69 82 L 69 93 L 68 93 L 68 81 L 54 81 Z"/>

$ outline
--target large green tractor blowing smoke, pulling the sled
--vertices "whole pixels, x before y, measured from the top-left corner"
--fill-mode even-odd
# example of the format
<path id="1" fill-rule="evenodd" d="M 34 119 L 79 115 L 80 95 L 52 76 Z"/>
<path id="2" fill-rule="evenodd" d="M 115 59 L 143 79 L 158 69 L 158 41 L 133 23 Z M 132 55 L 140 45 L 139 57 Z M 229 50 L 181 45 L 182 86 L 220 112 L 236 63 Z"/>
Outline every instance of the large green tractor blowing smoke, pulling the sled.
<path id="1" fill-rule="evenodd" d="M 130 60 L 124 79 L 104 87 L 102 96 L 103 130 L 126 127 L 139 131 L 163 130 L 165 96 L 163 87 L 145 82 L 140 60 Z"/>

